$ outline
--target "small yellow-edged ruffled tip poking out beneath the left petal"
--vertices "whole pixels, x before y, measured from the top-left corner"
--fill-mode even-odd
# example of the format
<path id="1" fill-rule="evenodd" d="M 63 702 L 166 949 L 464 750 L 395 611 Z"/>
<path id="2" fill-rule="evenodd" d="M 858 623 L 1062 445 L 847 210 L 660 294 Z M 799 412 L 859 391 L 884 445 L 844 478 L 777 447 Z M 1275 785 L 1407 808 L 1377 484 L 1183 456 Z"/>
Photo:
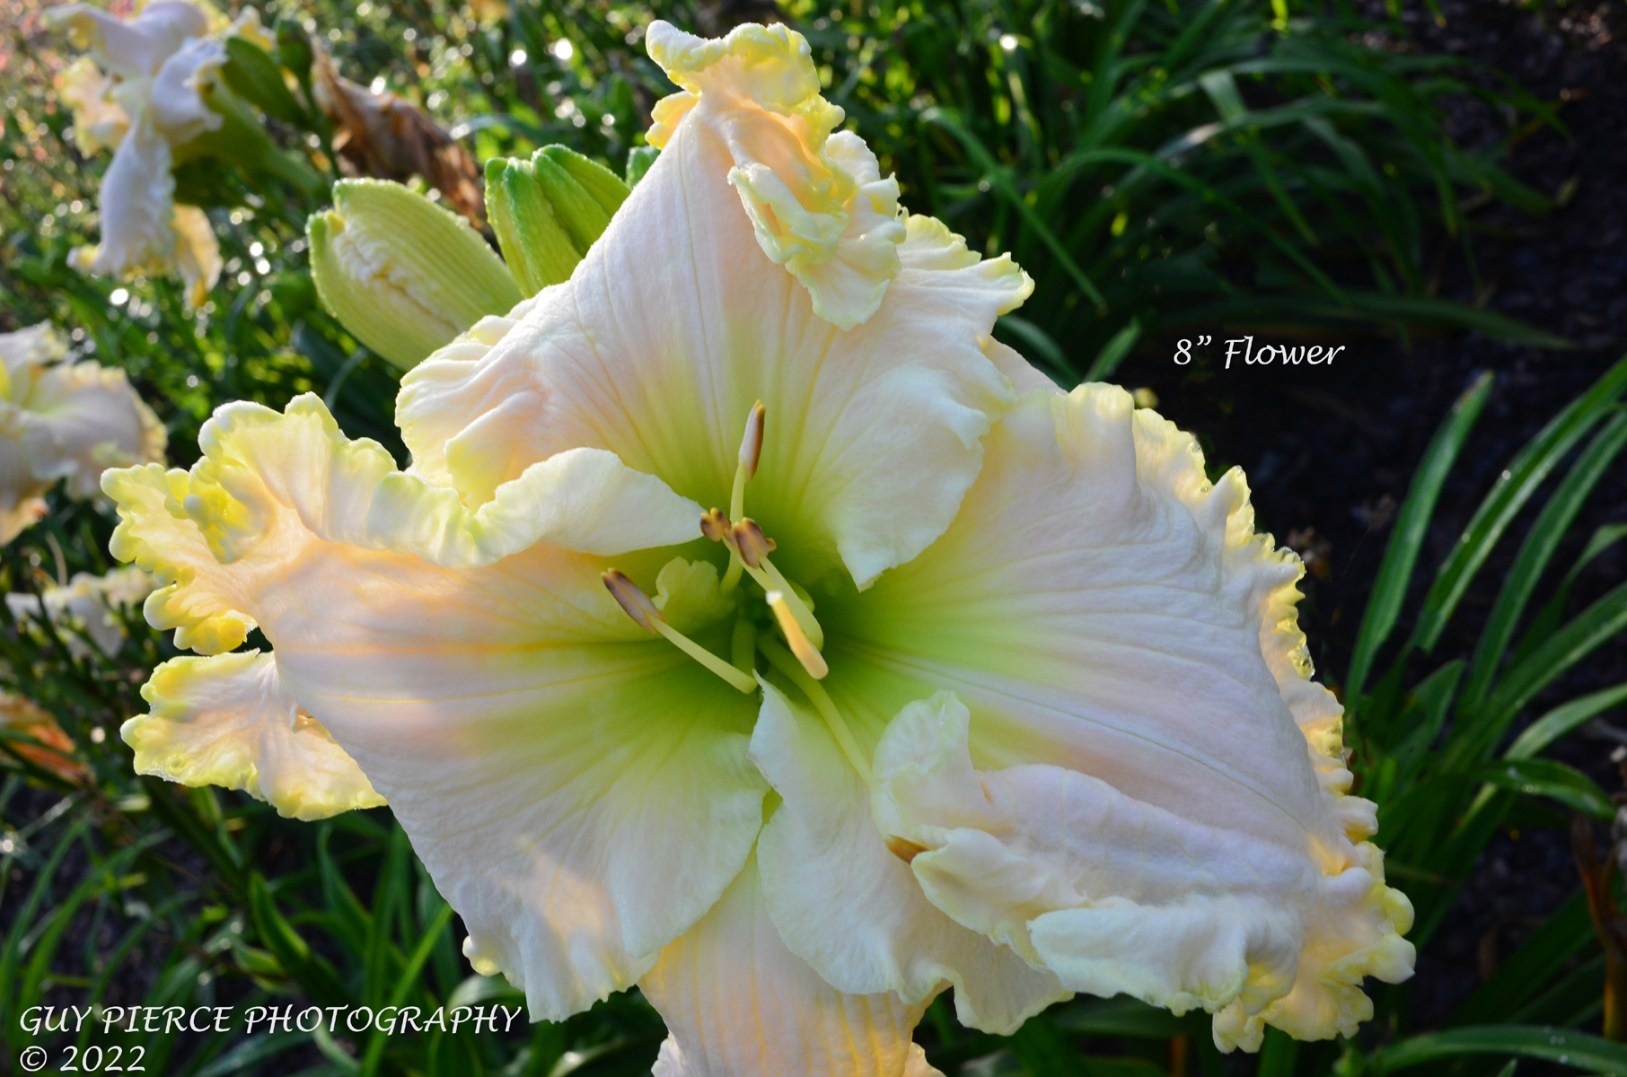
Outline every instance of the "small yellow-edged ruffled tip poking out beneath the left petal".
<path id="1" fill-rule="evenodd" d="M 270 654 L 171 659 L 153 670 L 142 698 L 151 711 L 119 730 L 135 748 L 138 774 L 241 789 L 303 820 L 384 804 L 356 761 L 283 690 Z"/>

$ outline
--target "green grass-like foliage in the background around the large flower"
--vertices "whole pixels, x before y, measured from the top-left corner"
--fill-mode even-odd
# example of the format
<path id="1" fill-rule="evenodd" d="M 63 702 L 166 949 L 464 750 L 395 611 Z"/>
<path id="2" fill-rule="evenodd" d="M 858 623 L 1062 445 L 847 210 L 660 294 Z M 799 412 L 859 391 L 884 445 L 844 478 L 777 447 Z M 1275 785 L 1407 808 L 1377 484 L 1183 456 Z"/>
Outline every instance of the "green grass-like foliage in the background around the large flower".
<path id="1" fill-rule="evenodd" d="M 643 26 L 662 16 L 724 29 L 716 5 L 665 0 L 324 2 L 265 13 L 267 23 L 303 23 L 350 78 L 413 96 L 478 159 L 563 142 L 617 169 L 670 89 L 643 57 Z M 1105 377 L 1137 340 L 1206 324 L 1279 334 L 1455 327 L 1560 343 L 1445 303 L 1432 283 L 1446 252 L 1472 265 L 1474 205 L 1549 207 L 1497 166 L 1495 146 L 1453 143 L 1442 101 L 1481 94 L 1539 120 L 1541 109 L 1438 57 L 1363 44 L 1367 28 L 1344 5 L 796 0 L 779 15 L 807 34 L 828 96 L 898 172 L 906 203 L 979 249 L 1012 251 L 1035 277 L 1035 296 L 1001 332 L 1059 381 Z M 280 407 L 304 390 L 322 394 L 348 434 L 400 454 L 395 374 L 311 285 L 304 221 L 338 174 L 334 132 L 311 99 L 285 85 L 262 86 L 257 99 L 242 86 L 270 116 L 288 176 L 182 176 L 228 259 L 212 303 L 189 317 L 171 281 L 93 280 L 68 267 L 68 251 L 94 239 L 104 159 L 85 161 L 65 140 L 70 119 L 50 104 L 52 39 L 26 21 L 15 34 L 26 47 L 0 73 L 0 317 L 15 324 L 0 329 L 49 319 L 73 335 L 76 355 L 130 371 L 182 465 L 216 403 Z M 1350 709 L 1359 792 L 1378 800 L 1389 874 L 1417 905 L 1420 965 L 1500 825 L 1518 817 L 1564 830 L 1575 812 L 1614 813 L 1593 781 L 1542 753 L 1627 703 L 1627 685 L 1526 719 L 1538 693 L 1627 628 L 1627 589 L 1586 595 L 1588 563 L 1627 527 L 1599 530 L 1575 561 L 1555 560 L 1627 444 L 1627 361 L 1505 464 L 1463 542 L 1442 565 L 1427 563 L 1438 495 L 1490 389 L 1489 377 L 1477 381 L 1445 416 L 1394 522 L 1352 667 L 1331 677 Z M 0 552 L 0 591 L 39 592 L 111 568 L 109 514 L 54 506 Z M 1515 537 L 1511 569 L 1487 579 L 1482 566 Z M 1479 646 L 1469 661 L 1432 661 L 1471 589 L 1497 592 Z M 124 618 L 127 639 L 109 657 L 70 648 L 73 625 L 20 623 L 0 605 L 0 687 L 44 708 L 76 745 L 0 729 L 7 1064 L 29 1043 L 57 1059 L 94 1041 L 127 1057 L 140 1048 L 146 1072 L 166 1077 L 649 1070 L 664 1030 L 636 992 L 565 1025 L 517 1022 L 506 1033 L 251 1036 L 239 1023 L 181 1035 L 86 1022 L 78 1033 L 26 1035 L 18 1015 L 42 1002 L 231 1004 L 239 1015 L 251 1005 L 522 1005 L 464 961 L 464 932 L 387 809 L 306 825 L 239 794 L 137 778 L 117 729 L 146 709 L 140 683 L 176 651 L 138 612 Z M 1398 625 L 1415 628 L 1402 639 Z M 1456 1077 L 1492 1074 L 1510 1057 L 1627 1072 L 1627 1048 L 1580 1031 L 1598 1017 L 1603 981 L 1578 888 L 1448 1028 L 1415 1031 L 1409 988 L 1385 988 L 1357 1041 L 1297 1044 L 1272 1033 L 1259 1072 L 1432 1067 Z M 960 1028 L 939 1001 L 918 1035 L 945 1074 L 1233 1072 L 1210 1046 L 1206 1015 L 1128 999 L 1079 999 L 1012 1038 Z"/>

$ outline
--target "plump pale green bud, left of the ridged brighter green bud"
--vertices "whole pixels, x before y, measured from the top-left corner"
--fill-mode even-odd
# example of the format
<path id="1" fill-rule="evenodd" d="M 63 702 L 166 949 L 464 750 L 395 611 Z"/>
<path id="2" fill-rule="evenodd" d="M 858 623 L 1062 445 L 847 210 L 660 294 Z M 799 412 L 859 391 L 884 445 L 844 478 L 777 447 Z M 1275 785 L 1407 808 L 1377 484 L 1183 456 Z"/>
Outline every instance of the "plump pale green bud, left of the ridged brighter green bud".
<path id="1" fill-rule="evenodd" d="M 400 184 L 350 179 L 312 213 L 311 277 L 345 329 L 400 368 L 521 301 L 503 260 L 464 218 Z"/>

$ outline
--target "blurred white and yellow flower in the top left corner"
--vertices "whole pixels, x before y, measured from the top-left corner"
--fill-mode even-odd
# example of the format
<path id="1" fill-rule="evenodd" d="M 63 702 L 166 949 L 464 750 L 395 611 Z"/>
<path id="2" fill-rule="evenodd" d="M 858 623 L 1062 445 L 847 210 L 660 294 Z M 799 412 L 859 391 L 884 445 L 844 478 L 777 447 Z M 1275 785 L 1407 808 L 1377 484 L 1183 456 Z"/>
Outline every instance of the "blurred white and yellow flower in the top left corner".
<path id="1" fill-rule="evenodd" d="M 91 52 L 59 83 L 80 150 L 117 145 L 101 185 L 101 244 L 75 251 L 73 265 L 112 277 L 179 272 L 187 304 L 202 304 L 220 280 L 220 244 L 203 210 L 176 205 L 171 168 L 177 146 L 223 124 L 200 93 L 226 62 L 221 42 L 205 37 L 208 15 L 153 0 L 129 20 L 85 3 L 46 16 Z M 259 16 L 233 31 L 264 37 Z"/>

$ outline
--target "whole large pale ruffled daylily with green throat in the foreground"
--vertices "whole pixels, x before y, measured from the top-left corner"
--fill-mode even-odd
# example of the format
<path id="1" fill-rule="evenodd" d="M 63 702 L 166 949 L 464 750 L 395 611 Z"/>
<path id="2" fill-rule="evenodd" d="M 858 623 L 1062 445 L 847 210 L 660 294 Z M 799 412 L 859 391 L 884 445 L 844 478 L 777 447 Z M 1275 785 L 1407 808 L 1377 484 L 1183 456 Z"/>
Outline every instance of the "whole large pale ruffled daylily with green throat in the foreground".
<path id="1" fill-rule="evenodd" d="M 403 377 L 412 469 L 306 395 L 107 475 L 194 695 L 321 722 L 473 966 L 534 1018 L 636 983 L 662 1075 L 919 1077 L 949 986 L 1350 1031 L 1411 909 L 1241 473 L 994 342 L 1032 281 L 900 213 L 800 36 L 648 42 L 659 159 Z M 137 768 L 236 781 L 163 696 Z"/>

